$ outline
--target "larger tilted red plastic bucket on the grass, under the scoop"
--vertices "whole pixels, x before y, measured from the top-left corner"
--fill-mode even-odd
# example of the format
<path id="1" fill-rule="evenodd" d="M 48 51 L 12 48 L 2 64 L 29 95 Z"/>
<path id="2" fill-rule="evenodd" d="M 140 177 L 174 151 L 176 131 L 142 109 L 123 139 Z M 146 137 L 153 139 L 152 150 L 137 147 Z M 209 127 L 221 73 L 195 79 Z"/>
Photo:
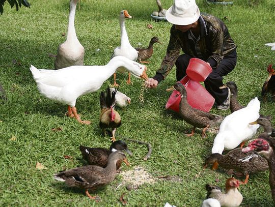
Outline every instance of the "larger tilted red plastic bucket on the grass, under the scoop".
<path id="1" fill-rule="evenodd" d="M 200 109 L 202 111 L 210 111 L 215 102 L 215 99 L 208 93 L 208 91 L 206 91 L 200 82 L 190 79 L 187 75 L 183 77 L 180 82 L 186 88 L 187 102 L 191 107 Z M 174 90 L 172 95 L 169 97 L 165 108 L 179 112 L 180 100 L 180 93 Z"/>

